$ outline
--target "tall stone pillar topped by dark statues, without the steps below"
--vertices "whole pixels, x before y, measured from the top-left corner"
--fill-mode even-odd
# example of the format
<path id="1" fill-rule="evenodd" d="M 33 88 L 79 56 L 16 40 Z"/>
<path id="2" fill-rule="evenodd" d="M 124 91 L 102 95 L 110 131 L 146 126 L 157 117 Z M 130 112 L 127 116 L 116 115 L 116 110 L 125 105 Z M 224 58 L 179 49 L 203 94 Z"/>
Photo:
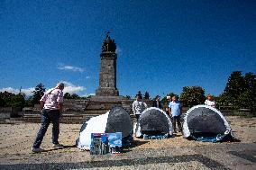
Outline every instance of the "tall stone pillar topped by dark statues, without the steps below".
<path id="1" fill-rule="evenodd" d="M 101 67 L 99 72 L 99 87 L 96 89 L 96 96 L 118 96 L 116 88 L 116 45 L 111 40 L 109 32 L 102 44 Z"/>

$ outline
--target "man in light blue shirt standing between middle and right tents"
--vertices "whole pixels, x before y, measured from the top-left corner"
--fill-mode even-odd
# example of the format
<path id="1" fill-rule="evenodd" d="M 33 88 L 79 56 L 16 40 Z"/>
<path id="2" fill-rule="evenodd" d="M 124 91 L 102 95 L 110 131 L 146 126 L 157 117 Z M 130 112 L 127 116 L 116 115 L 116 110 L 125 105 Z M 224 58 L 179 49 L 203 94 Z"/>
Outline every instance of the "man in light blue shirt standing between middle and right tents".
<path id="1" fill-rule="evenodd" d="M 180 123 L 181 104 L 179 103 L 176 95 L 172 97 L 172 101 L 169 103 L 169 112 L 172 118 L 172 126 L 173 126 L 174 132 L 177 133 L 176 122 L 178 124 L 178 130 L 182 131 L 182 127 Z"/>

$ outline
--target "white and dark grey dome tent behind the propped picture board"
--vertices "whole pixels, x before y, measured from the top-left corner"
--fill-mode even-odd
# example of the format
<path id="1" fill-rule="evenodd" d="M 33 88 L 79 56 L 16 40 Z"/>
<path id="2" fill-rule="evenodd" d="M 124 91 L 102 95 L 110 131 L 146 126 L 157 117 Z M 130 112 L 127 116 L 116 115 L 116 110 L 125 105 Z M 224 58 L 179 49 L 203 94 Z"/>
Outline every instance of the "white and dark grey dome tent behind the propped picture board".
<path id="1" fill-rule="evenodd" d="M 90 149 L 92 133 L 115 133 L 122 132 L 122 145 L 130 145 L 133 139 L 133 122 L 129 113 L 123 107 L 115 106 L 105 114 L 86 121 L 79 132 L 76 141 L 78 148 Z"/>

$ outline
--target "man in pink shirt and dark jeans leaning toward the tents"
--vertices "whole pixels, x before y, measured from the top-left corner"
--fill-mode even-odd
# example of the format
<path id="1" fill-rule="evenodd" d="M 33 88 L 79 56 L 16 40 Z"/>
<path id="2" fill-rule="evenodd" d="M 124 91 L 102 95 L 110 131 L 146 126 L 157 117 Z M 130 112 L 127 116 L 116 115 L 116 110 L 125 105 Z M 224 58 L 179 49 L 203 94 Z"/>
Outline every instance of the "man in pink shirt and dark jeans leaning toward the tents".
<path id="1" fill-rule="evenodd" d="M 53 148 L 63 147 L 59 144 L 59 118 L 63 108 L 64 84 L 59 83 L 55 88 L 51 88 L 41 97 L 41 129 L 38 131 L 32 146 L 32 152 L 40 153 L 42 139 L 52 122 L 52 144 Z"/>

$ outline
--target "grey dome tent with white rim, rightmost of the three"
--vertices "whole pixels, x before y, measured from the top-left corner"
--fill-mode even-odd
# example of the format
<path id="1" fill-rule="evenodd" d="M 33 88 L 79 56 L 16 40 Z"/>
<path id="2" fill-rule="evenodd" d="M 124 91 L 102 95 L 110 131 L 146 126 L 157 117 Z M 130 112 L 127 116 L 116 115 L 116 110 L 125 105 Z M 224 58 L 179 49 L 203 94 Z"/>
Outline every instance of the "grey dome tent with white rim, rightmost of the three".
<path id="1" fill-rule="evenodd" d="M 224 115 L 207 105 L 189 109 L 184 117 L 183 136 L 200 141 L 221 141 L 233 139 L 233 132 Z"/>

